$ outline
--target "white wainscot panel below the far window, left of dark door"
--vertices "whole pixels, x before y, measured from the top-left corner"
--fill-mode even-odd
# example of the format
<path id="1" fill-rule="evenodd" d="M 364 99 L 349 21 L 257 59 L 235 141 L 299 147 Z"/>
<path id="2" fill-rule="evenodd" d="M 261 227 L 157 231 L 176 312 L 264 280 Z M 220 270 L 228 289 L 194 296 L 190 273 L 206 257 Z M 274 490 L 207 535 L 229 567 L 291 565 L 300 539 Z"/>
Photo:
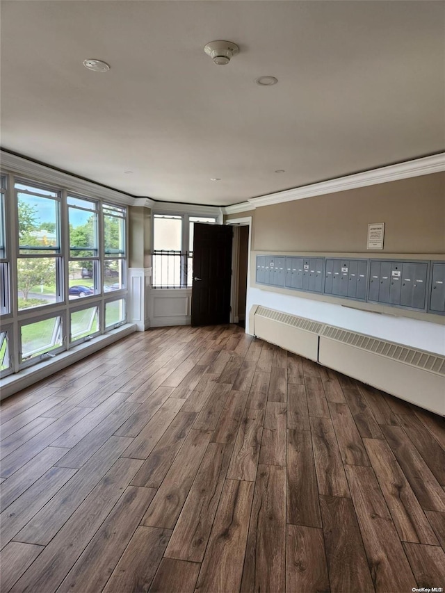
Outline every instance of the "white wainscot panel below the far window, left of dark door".
<path id="1" fill-rule="evenodd" d="M 192 289 L 150 289 L 151 327 L 191 324 Z"/>

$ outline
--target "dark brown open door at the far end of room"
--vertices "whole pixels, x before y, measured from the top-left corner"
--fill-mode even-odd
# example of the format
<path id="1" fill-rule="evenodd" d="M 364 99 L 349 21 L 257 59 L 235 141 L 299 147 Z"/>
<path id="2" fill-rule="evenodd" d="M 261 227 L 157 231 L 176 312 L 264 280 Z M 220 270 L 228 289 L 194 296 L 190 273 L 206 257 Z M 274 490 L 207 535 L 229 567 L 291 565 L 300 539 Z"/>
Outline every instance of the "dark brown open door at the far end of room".
<path id="1" fill-rule="evenodd" d="M 232 227 L 195 222 L 192 325 L 229 323 L 232 236 Z"/>

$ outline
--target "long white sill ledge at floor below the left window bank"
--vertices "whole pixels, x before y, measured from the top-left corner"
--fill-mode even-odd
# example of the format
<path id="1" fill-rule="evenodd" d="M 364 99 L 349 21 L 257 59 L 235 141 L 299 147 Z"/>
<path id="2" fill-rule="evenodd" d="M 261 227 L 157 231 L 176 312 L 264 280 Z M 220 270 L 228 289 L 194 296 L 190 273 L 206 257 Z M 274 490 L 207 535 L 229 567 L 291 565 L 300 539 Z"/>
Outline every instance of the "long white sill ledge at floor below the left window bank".
<path id="1" fill-rule="evenodd" d="M 72 347 L 70 350 L 60 353 L 54 359 L 39 362 L 29 368 L 24 368 L 18 373 L 4 377 L 0 382 L 0 400 L 8 398 L 9 396 L 12 396 L 13 393 L 17 393 L 17 391 L 29 387 L 45 377 L 49 377 L 49 375 L 61 371 L 63 368 L 70 366 L 70 364 L 74 364 L 74 362 L 89 356 L 93 352 L 97 352 L 97 350 L 109 346 L 115 341 L 118 341 L 135 331 L 136 325 L 134 323 L 126 323 L 125 325 L 117 327 L 115 330 L 111 330 L 111 332 L 107 332 L 102 336 L 97 336 L 88 342 L 83 342 L 78 346 Z"/>

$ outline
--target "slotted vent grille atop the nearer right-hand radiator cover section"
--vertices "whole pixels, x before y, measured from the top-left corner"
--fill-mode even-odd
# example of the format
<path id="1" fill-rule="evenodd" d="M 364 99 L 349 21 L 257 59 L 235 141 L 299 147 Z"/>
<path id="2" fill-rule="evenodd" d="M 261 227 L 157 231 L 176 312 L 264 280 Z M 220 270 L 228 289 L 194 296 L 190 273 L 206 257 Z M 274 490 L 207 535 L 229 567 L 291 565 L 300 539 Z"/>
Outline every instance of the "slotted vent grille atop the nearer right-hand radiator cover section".
<path id="1" fill-rule="evenodd" d="M 410 364 L 410 366 L 416 368 L 423 368 L 426 371 L 432 371 L 432 373 L 445 375 L 445 357 L 443 356 L 423 352 L 423 350 L 414 350 L 414 348 L 406 348 L 401 344 L 371 338 L 364 334 L 348 332 L 347 330 L 341 330 L 339 327 L 332 327 L 332 325 L 325 325 L 321 335 L 349 346 L 355 346 L 355 348 Z"/>

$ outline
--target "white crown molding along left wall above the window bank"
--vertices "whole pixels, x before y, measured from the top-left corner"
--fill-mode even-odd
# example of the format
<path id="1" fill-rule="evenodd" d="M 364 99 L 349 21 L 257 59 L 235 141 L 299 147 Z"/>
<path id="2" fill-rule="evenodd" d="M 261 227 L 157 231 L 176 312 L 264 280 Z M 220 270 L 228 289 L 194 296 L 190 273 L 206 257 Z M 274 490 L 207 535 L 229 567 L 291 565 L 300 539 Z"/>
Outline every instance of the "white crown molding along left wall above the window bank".
<path id="1" fill-rule="evenodd" d="M 97 197 L 102 200 L 108 200 L 122 205 L 133 206 L 134 197 L 118 190 L 113 190 L 95 184 L 94 181 L 79 179 L 75 175 L 58 171 L 25 159 L 23 156 L 11 154 L 10 152 L 0 151 L 1 166 L 24 177 L 30 177 L 34 181 L 42 181 L 45 184 L 58 185 L 67 188 L 74 193 L 79 193 L 88 197 Z"/>

